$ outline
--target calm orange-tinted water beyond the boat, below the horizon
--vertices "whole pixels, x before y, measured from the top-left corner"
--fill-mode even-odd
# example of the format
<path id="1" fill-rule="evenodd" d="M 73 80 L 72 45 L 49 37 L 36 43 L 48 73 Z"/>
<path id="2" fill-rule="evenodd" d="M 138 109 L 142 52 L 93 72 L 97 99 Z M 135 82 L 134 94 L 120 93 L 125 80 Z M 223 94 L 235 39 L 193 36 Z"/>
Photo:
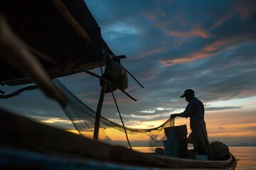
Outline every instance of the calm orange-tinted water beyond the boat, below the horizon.
<path id="1" fill-rule="evenodd" d="M 139 152 L 154 152 L 156 147 L 134 147 Z M 256 170 L 256 147 L 228 147 L 230 152 L 238 159 L 238 170 Z"/>

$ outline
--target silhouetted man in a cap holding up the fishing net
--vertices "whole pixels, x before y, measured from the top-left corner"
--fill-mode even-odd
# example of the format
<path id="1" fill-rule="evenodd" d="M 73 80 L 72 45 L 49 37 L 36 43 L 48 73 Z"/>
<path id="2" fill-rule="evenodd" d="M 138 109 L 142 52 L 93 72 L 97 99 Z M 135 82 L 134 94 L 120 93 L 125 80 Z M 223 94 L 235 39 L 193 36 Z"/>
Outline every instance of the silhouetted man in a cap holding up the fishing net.
<path id="1" fill-rule="evenodd" d="M 192 89 L 186 89 L 181 98 L 185 97 L 188 101 L 188 106 L 183 113 L 172 114 L 171 119 L 176 117 L 190 117 L 191 135 L 188 137 L 188 142 L 193 143 L 194 149 L 198 154 L 207 154 L 211 157 L 210 143 L 206 131 L 206 122 L 204 121 L 204 106 L 203 103 L 195 97 L 195 92 Z M 192 138 L 192 141 L 190 141 Z"/>

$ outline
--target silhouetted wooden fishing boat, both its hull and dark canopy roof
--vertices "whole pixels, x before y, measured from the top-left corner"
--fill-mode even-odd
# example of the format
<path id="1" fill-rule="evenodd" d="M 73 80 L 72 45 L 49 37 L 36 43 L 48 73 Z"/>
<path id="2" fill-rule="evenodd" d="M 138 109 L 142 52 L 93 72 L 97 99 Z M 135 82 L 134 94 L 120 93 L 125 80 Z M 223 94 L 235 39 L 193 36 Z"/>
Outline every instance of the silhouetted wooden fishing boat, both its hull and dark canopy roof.
<path id="1" fill-rule="evenodd" d="M 82 0 L 4 0 L 0 6 L 50 79 L 101 67 L 107 55 L 114 55 Z M 2 85 L 33 82 L 2 56 L 0 68 Z M 0 169 L 235 169 L 236 164 L 229 152 L 214 161 L 135 152 L 0 110 Z"/>

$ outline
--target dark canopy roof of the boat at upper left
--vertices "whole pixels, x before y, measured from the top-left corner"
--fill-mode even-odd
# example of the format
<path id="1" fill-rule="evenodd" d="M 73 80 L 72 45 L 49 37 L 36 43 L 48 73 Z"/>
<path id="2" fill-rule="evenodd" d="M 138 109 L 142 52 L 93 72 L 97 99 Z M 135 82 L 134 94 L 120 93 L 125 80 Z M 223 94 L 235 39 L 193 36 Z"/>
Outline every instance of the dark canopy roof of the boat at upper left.
<path id="1" fill-rule="evenodd" d="M 114 55 L 83 0 L 2 0 L 0 12 L 52 79 L 100 67 Z M 31 82 L 0 54 L 0 84 Z"/>

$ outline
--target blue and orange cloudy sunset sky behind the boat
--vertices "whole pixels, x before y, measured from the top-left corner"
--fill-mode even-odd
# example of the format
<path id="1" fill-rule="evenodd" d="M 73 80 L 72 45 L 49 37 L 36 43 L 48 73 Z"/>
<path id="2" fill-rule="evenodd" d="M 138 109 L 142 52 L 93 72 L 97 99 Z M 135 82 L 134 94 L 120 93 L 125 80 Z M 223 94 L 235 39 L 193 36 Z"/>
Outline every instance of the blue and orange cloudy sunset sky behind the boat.
<path id="1" fill-rule="evenodd" d="M 193 89 L 206 108 L 209 140 L 227 145 L 256 143 L 256 1 L 85 0 L 101 28 L 102 37 L 121 63 L 144 86 L 129 76 L 117 90 L 124 125 L 153 128 L 187 102 L 180 98 Z M 100 69 L 94 69 L 101 75 Z M 87 106 L 96 111 L 99 79 L 86 73 L 60 78 Z M 21 86 L 1 86 L 6 94 Z M 2 100 L 1 108 L 48 125 L 74 129 L 58 103 L 41 91 L 26 91 Z M 111 94 L 102 107 L 105 118 L 120 123 Z M 176 125 L 189 119 L 176 118 Z"/>

